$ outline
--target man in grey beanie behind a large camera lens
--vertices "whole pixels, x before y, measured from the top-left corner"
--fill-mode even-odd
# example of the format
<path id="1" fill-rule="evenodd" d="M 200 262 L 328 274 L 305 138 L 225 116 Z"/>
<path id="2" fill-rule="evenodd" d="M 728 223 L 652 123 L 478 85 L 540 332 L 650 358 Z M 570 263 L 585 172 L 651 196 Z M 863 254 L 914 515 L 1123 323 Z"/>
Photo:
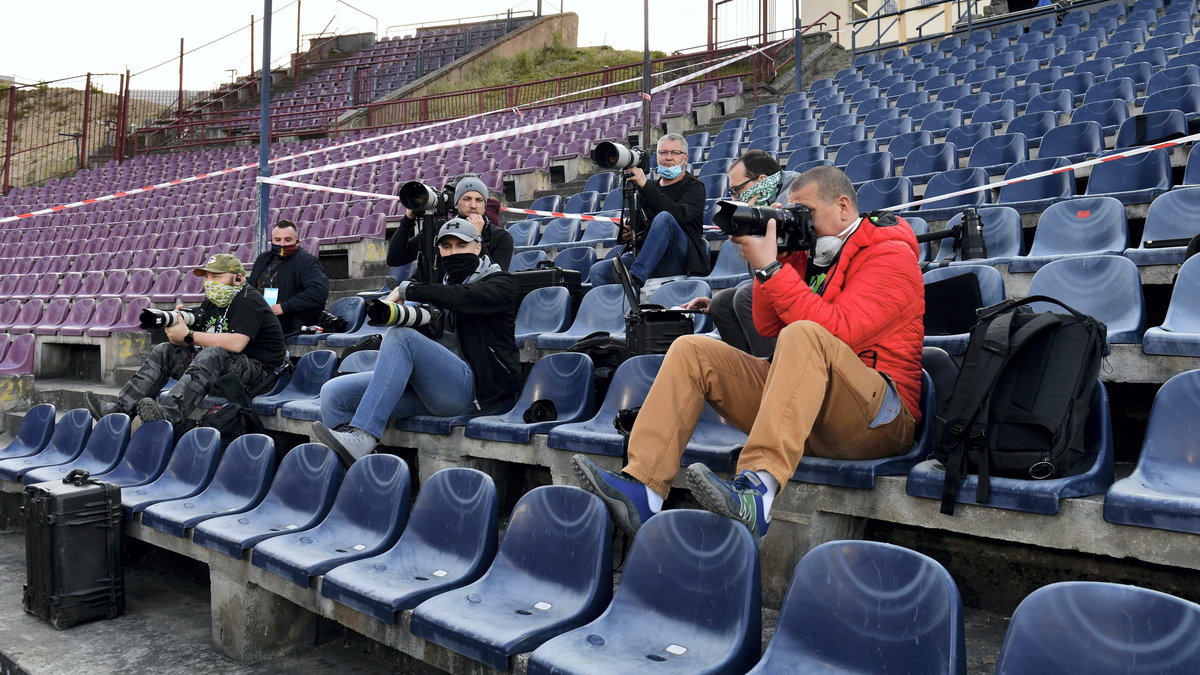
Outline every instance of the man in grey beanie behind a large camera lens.
<path id="1" fill-rule="evenodd" d="M 487 186 L 473 173 L 462 174 L 454 189 L 454 210 L 457 216 L 475 226 L 482 239 L 484 253 L 502 270 L 509 269 L 512 259 L 512 235 L 506 229 L 499 227 L 499 202 L 496 202 L 496 214 L 488 213 Z M 454 215 L 454 214 L 451 214 Z M 440 225 L 440 223 L 438 223 Z M 404 211 L 404 217 L 400 219 L 400 227 L 391 237 L 388 245 L 388 264 L 398 267 L 416 259 L 421 249 L 418 235 L 416 220 L 413 211 Z M 440 277 L 440 259 L 434 258 L 434 274 Z M 437 281 L 425 280 L 421 281 Z"/>

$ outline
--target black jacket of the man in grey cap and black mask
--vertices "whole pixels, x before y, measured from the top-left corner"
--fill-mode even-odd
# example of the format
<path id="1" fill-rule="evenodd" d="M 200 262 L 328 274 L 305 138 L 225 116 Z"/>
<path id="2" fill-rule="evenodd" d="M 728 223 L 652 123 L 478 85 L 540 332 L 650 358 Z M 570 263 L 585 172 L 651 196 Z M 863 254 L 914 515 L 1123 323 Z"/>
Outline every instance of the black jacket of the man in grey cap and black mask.
<path id="1" fill-rule="evenodd" d="M 498 271 L 472 283 L 412 283 L 406 300 L 442 307 L 443 325 L 458 335 L 467 365 L 475 374 L 475 401 L 481 410 L 516 398 L 521 390 L 517 357 L 517 282 Z"/>

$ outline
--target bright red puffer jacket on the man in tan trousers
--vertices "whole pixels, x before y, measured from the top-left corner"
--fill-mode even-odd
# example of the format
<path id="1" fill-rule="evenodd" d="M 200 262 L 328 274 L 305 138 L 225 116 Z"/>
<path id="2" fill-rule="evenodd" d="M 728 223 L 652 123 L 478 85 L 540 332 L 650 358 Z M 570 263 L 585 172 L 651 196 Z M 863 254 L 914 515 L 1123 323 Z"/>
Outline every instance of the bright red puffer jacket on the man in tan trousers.
<path id="1" fill-rule="evenodd" d="M 784 269 L 767 283 L 754 285 L 754 323 L 768 338 L 796 321 L 820 323 L 864 364 L 892 377 L 919 422 L 925 286 L 917 267 L 917 238 L 907 222 L 895 221 L 886 226 L 863 219 L 829 270 L 821 295 L 804 281 L 808 253 L 781 255 Z"/>

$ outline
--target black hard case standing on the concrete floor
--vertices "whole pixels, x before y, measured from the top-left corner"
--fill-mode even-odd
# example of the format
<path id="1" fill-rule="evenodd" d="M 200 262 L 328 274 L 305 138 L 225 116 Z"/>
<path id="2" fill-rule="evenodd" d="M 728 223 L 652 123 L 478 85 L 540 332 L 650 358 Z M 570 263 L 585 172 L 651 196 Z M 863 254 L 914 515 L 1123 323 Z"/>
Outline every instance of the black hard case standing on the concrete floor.
<path id="1" fill-rule="evenodd" d="M 125 611 L 121 488 L 71 472 L 25 488 L 25 611 L 55 628 Z"/>

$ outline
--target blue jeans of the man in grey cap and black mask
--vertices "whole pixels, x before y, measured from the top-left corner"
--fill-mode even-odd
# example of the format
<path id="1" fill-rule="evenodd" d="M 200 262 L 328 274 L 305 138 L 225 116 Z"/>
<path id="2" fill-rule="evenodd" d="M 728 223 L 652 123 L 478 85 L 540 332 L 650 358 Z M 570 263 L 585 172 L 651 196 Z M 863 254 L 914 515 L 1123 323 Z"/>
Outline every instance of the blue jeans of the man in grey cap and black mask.
<path id="1" fill-rule="evenodd" d="M 320 420 L 349 423 L 376 438 L 391 418 L 451 417 L 474 407 L 475 376 L 464 360 L 412 328 L 389 328 L 373 372 L 335 377 L 320 388 Z"/>

